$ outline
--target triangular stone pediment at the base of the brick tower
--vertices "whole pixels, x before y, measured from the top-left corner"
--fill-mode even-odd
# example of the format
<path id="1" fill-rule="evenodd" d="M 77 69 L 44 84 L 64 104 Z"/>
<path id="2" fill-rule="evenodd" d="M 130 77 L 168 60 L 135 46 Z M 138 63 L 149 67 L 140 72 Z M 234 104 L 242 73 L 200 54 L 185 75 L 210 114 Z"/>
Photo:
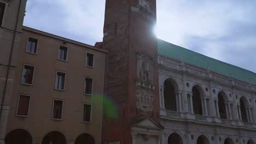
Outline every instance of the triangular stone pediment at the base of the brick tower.
<path id="1" fill-rule="evenodd" d="M 162 129 L 162 125 L 156 122 L 153 118 L 144 116 L 138 118 L 134 121 L 131 126 L 133 127 L 143 127 L 143 128 L 152 128 L 152 129 Z"/>

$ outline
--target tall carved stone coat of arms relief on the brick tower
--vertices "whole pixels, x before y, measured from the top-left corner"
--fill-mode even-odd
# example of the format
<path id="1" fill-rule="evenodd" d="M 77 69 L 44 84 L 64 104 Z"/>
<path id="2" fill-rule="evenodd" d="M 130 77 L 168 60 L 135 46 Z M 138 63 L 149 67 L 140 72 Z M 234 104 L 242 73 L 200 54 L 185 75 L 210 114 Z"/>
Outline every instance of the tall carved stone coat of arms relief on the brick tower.
<path id="1" fill-rule="evenodd" d="M 152 112 L 154 101 L 153 59 L 147 53 L 137 53 L 137 109 Z"/>

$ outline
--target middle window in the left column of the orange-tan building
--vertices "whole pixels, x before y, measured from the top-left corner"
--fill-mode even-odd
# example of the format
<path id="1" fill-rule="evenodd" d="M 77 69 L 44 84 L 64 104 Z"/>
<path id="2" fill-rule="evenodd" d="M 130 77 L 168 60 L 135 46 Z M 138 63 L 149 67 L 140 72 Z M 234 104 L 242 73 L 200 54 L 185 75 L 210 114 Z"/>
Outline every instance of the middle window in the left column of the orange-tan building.
<path id="1" fill-rule="evenodd" d="M 22 71 L 22 79 L 21 83 L 26 83 L 29 85 L 33 84 L 33 75 L 34 75 L 34 67 L 31 65 L 24 66 L 24 69 Z"/>

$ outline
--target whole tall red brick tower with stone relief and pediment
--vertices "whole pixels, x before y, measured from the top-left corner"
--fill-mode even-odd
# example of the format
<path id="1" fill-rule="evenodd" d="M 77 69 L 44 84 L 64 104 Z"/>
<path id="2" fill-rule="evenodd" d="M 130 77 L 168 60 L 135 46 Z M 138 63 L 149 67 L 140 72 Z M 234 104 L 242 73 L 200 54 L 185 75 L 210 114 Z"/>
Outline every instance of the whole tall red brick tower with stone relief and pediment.
<path id="1" fill-rule="evenodd" d="M 105 103 L 105 143 L 160 143 L 155 24 L 155 0 L 106 1 L 106 95 L 117 109 Z"/>

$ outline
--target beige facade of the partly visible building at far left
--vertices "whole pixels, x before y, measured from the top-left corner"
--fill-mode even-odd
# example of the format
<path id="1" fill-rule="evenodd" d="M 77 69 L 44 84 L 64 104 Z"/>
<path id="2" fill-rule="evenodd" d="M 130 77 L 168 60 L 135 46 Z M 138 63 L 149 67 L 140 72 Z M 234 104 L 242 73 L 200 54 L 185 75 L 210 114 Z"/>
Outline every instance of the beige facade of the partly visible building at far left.
<path id="1" fill-rule="evenodd" d="M 2 144 L 6 134 L 26 0 L 1 0 L 0 3 L 3 12 L 0 21 L 0 143 Z"/>

